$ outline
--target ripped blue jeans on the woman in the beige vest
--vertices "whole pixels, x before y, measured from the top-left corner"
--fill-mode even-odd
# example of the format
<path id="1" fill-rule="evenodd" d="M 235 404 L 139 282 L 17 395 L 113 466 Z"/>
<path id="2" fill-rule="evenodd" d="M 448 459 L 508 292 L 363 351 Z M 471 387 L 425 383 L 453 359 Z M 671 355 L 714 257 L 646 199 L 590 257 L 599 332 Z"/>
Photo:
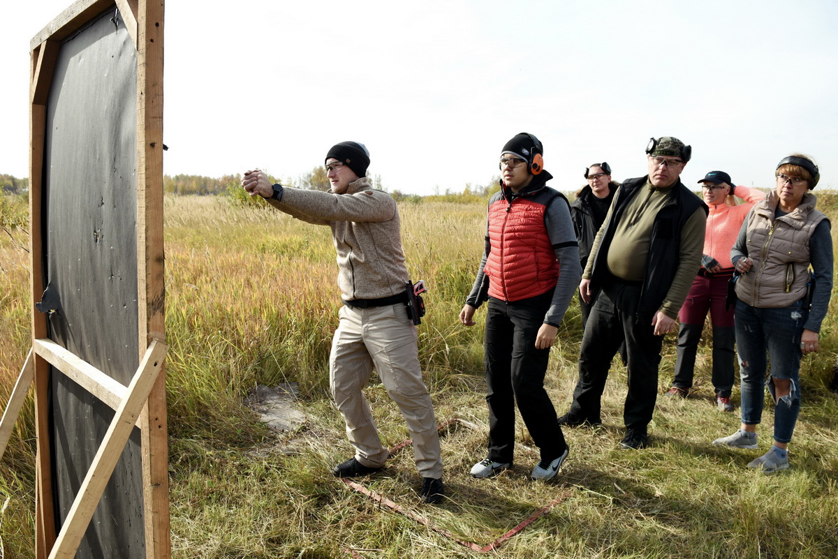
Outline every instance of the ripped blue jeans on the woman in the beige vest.
<path id="1" fill-rule="evenodd" d="M 736 304 L 742 423 L 756 425 L 762 421 L 769 357 L 768 391 L 775 401 L 773 378 L 791 382 L 791 392 L 781 397 L 774 408 L 774 440 L 779 443 L 791 440 L 800 412 L 800 336 L 807 315 L 802 301 L 782 309 L 760 309 L 741 300 Z"/>

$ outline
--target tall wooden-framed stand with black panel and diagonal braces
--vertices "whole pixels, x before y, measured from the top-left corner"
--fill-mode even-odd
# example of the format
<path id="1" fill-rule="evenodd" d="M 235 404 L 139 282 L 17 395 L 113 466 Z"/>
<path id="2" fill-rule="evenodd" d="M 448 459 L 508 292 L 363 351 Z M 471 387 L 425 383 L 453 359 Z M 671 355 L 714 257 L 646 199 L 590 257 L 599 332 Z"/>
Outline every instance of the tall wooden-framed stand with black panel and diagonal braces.
<path id="1" fill-rule="evenodd" d="M 33 346 L 10 398 L 9 409 L 3 416 L 0 435 L 6 436 L 11 430 L 9 421 L 16 420 L 28 385 L 33 383 L 38 438 L 35 556 L 39 559 L 117 555 L 164 559 L 171 554 L 163 372 L 167 348 L 163 334 L 163 2 L 78 0 L 35 35 L 30 44 L 29 216 Z M 93 38 L 88 39 L 91 34 Z M 106 47 L 116 44 L 116 53 L 91 62 L 96 59 L 97 52 L 101 54 L 103 42 Z M 92 44 L 93 48 L 81 51 L 87 44 Z M 80 54 L 66 54 L 66 49 L 79 50 Z M 74 80 L 72 73 L 85 64 L 99 65 L 96 66 L 98 73 L 91 74 L 94 79 L 84 76 Z M 101 86 L 101 80 L 112 79 L 111 68 L 116 69 L 112 74 L 120 71 L 123 74 L 121 99 L 108 97 L 112 95 L 108 82 L 104 82 L 105 87 Z M 116 75 L 116 78 L 120 76 Z M 133 80 L 136 80 L 136 87 L 125 95 L 124 91 L 131 89 Z M 85 94 L 85 81 L 90 81 L 91 86 L 99 83 L 99 86 Z M 125 84 L 128 87 L 124 87 Z M 77 91 L 75 98 L 63 100 L 70 95 L 66 91 L 72 92 L 73 87 Z M 119 90 L 120 86 L 113 89 Z M 78 91 L 84 95 L 79 95 Z M 118 101 L 124 106 L 118 105 Z M 77 103 L 75 107 L 74 102 Z M 91 102 L 94 105 L 90 105 Z M 96 103 L 101 103 L 101 113 L 91 110 Z M 64 115 L 65 120 L 59 121 L 56 115 Z M 78 130 L 74 127 L 74 119 L 78 121 Z M 108 126 L 109 119 L 119 123 L 120 136 L 116 139 L 107 136 L 107 131 L 96 128 Z M 126 126 L 126 121 L 131 122 Z M 134 128 L 134 136 L 125 133 L 133 132 Z M 75 146 L 76 137 L 80 142 L 87 138 L 92 144 Z M 125 148 L 122 151 L 118 149 L 120 146 L 115 146 L 119 142 Z M 113 162 L 104 161 L 104 156 L 111 154 Z M 91 169 L 95 172 L 88 178 L 85 172 Z M 101 189 L 101 208 L 98 208 L 99 204 L 85 206 L 84 199 L 79 202 L 78 198 L 84 198 L 84 194 L 74 196 L 74 185 L 87 183 Z M 97 197 L 100 196 L 98 192 Z M 100 219 L 102 223 L 85 224 L 84 227 L 89 227 L 85 235 L 64 233 L 64 229 L 70 232 L 84 230 L 79 229 L 77 222 L 99 214 L 104 215 Z M 56 221 L 58 225 L 55 225 Z M 127 245 L 133 246 L 128 246 L 127 250 L 120 246 L 108 248 L 107 244 L 114 239 L 117 243 L 128 239 Z M 70 242 L 69 249 L 62 248 L 63 242 Z M 82 247 L 96 244 L 93 256 L 88 257 L 92 262 L 90 268 L 82 262 L 83 254 L 78 259 L 78 266 L 65 264 L 74 262 L 68 253 L 79 244 Z M 136 253 L 132 252 L 134 250 Z M 122 274 L 114 264 L 108 264 L 111 262 L 108 259 L 116 253 L 136 256 L 135 261 L 125 266 L 127 274 Z M 108 278 L 110 283 L 98 278 L 83 278 L 78 280 L 77 290 L 70 289 L 75 287 L 75 276 L 88 272 L 96 275 L 96 266 L 102 262 L 114 269 Z M 79 273 L 80 269 L 82 273 Z M 84 281 L 88 283 L 84 284 Z M 102 285 L 97 285 L 96 281 Z M 118 290 L 109 287 L 117 284 Z M 108 296 L 113 296 L 111 291 L 118 291 L 118 296 L 122 297 L 120 302 L 127 301 L 123 305 L 125 308 L 119 309 L 128 317 L 125 321 L 108 318 L 112 316 L 108 313 L 115 311 L 107 309 L 118 306 L 113 300 L 107 300 Z M 75 300 L 76 292 L 85 299 Z M 97 293 L 102 294 L 104 302 L 96 299 Z M 94 295 L 90 297 L 91 294 Z M 101 315 L 96 315 L 97 309 L 101 309 Z M 98 336 L 95 340 L 100 344 L 98 348 L 87 339 L 88 334 L 81 331 L 85 321 L 93 320 L 91 315 L 101 321 L 100 326 L 93 329 L 93 337 Z M 135 321 L 136 325 L 133 324 Z M 109 336 L 122 332 L 124 337 L 126 331 L 133 340 L 127 343 L 119 340 L 118 344 L 109 341 Z M 79 351 L 74 352 L 74 347 Z M 120 351 L 127 351 L 127 363 L 123 359 L 122 364 L 114 364 Z M 88 353 L 93 356 L 91 359 L 80 355 Z M 113 368 L 122 381 L 109 371 Z M 59 392 L 65 386 L 72 387 L 67 409 L 76 413 L 56 408 L 61 397 Z M 57 426 L 67 418 L 76 422 L 74 427 L 83 423 L 82 419 L 70 416 L 78 415 L 78 410 L 84 409 L 78 406 L 85 403 L 96 405 L 97 408 L 84 414 L 104 420 L 104 428 L 101 425 L 96 428 L 98 440 L 92 460 L 66 467 L 63 459 L 72 454 L 68 449 L 75 450 L 76 442 L 71 439 L 75 433 L 64 433 Z M 15 406 L 18 408 L 14 409 Z M 2 452 L 5 441 L 0 443 Z M 139 455 L 141 460 L 127 461 L 129 447 L 134 449 L 131 456 Z M 90 459 L 91 450 L 86 452 L 86 459 Z M 142 471 L 131 468 L 132 464 L 142 464 Z M 131 471 L 121 473 L 126 465 Z M 126 479 L 136 478 L 137 483 L 127 484 L 130 487 L 120 486 L 109 495 L 110 483 L 121 475 Z M 67 489 L 61 486 L 61 476 L 71 480 L 72 485 L 78 485 L 74 487 L 71 506 L 66 498 Z M 140 495 L 136 495 L 137 491 L 131 492 L 137 488 Z M 106 495 L 104 499 L 103 494 Z M 122 515 L 122 522 L 125 524 L 128 519 L 128 524 L 136 521 L 138 526 L 102 526 L 108 518 L 97 518 L 97 509 L 105 505 L 111 507 L 108 510 L 118 509 L 123 496 L 139 505 Z M 91 523 L 91 519 L 96 521 Z M 129 527 L 138 530 L 139 536 L 135 537 L 127 554 L 109 546 L 117 542 L 114 536 L 100 536 L 104 531 L 120 533 Z M 103 550 L 105 555 L 101 555 Z"/>

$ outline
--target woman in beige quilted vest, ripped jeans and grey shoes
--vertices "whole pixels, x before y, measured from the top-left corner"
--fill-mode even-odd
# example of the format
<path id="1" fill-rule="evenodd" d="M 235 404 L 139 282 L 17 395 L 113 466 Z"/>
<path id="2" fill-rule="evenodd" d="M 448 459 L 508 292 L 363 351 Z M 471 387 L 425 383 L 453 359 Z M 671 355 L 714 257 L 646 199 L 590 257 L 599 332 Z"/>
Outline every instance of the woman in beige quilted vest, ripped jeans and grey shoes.
<path id="1" fill-rule="evenodd" d="M 785 157 L 777 187 L 747 215 L 731 250 L 737 271 L 736 341 L 742 381 L 742 425 L 713 444 L 757 449 L 764 378 L 776 403 L 773 446 L 749 468 L 789 467 L 788 446 L 800 409 L 800 358 L 818 351 L 818 332 L 832 290 L 830 222 L 809 191 L 820 178 L 807 156 Z M 813 274 L 809 269 L 814 270 Z"/>

